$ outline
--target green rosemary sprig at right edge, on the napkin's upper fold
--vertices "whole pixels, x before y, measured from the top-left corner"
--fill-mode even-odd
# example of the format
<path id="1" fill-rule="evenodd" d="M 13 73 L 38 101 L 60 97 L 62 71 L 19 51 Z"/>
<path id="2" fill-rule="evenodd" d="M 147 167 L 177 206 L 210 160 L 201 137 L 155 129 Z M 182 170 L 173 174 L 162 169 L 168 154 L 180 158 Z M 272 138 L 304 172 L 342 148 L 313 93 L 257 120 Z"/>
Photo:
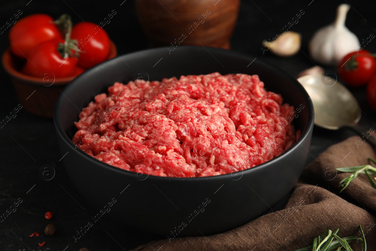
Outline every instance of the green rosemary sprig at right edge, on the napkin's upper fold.
<path id="1" fill-rule="evenodd" d="M 376 164 L 376 161 L 371 159 L 371 158 L 368 158 L 369 161 L 372 161 L 373 163 Z M 340 182 L 340 186 L 339 187 L 342 187 L 340 193 L 346 189 L 347 186 L 349 186 L 350 182 L 355 180 L 356 177 L 358 177 L 359 173 L 364 173 L 365 175 L 367 175 L 368 177 L 368 180 L 370 181 L 371 183 L 371 186 L 376 189 L 376 183 L 375 181 L 371 178 L 371 176 L 369 175 L 369 173 L 373 174 L 373 175 L 376 175 L 376 168 L 374 168 L 373 166 L 371 165 L 363 165 L 363 166 L 353 166 L 353 167 L 340 167 L 340 168 L 336 168 L 337 171 L 340 171 L 340 172 L 344 172 L 344 173 L 352 173 L 350 176 L 344 178 L 341 182 Z M 368 173 L 369 172 L 369 173 Z"/>

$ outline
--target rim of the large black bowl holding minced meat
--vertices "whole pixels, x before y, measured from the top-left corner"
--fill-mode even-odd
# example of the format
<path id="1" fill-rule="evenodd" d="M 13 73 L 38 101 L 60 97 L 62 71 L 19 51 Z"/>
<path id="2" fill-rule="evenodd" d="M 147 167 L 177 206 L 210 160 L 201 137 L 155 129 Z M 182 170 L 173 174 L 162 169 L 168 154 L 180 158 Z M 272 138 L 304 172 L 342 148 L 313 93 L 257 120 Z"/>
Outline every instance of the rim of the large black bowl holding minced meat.
<path id="1" fill-rule="evenodd" d="M 180 46 L 180 47 L 181 47 L 181 50 L 191 50 L 191 49 L 198 49 L 198 48 L 200 48 L 200 50 L 201 49 L 202 50 L 205 49 L 205 50 L 208 50 L 208 51 L 220 52 L 220 53 L 224 53 L 224 54 L 227 54 L 227 55 L 234 55 L 235 54 L 235 55 L 240 56 L 242 58 L 247 58 L 250 61 L 252 61 L 253 59 L 255 59 L 253 56 L 250 56 L 247 53 L 237 52 L 237 51 L 234 51 L 234 50 L 225 50 L 225 49 L 214 48 L 214 47 L 202 48 L 201 46 Z M 121 55 L 119 57 L 122 58 L 124 56 L 136 56 L 137 54 L 142 54 L 142 53 L 147 53 L 147 52 L 154 52 L 154 51 L 162 51 L 162 50 L 165 50 L 165 47 L 157 47 L 157 48 L 152 48 L 152 49 L 139 50 L 139 51 L 136 51 L 136 52 L 131 52 L 131 53 L 123 54 L 123 55 Z M 64 90 L 60 94 L 60 96 L 59 96 L 59 98 L 58 98 L 58 100 L 56 101 L 56 104 L 55 104 L 54 113 L 53 113 L 54 125 L 55 125 L 55 129 L 56 129 L 57 133 L 62 138 L 62 140 L 64 140 L 64 143 L 66 143 L 68 147 L 70 147 L 71 149 L 73 149 L 73 151 L 79 152 L 79 154 L 83 158 L 85 158 L 86 160 L 88 160 L 89 162 L 92 162 L 93 164 L 99 164 L 100 166 L 102 166 L 105 169 L 112 170 L 112 171 L 118 172 L 119 174 L 127 175 L 130 178 L 136 178 L 137 180 L 139 180 L 138 179 L 138 177 L 139 177 L 138 173 L 132 172 L 132 171 L 128 171 L 128 170 L 124 170 L 124 169 L 121 169 L 119 167 L 111 166 L 110 164 L 107 164 L 105 162 L 97 160 L 94 157 L 91 157 L 90 155 L 86 154 L 86 152 L 84 152 L 81 149 L 77 148 L 76 145 L 74 145 L 74 143 L 68 138 L 67 134 L 65 133 L 65 131 L 64 131 L 63 127 L 62 127 L 60 116 L 59 116 L 60 113 L 61 113 L 61 110 L 60 110 L 61 103 L 63 102 L 62 100 L 63 100 L 63 98 L 65 96 L 65 93 L 68 92 L 68 91 L 70 91 L 71 89 L 73 89 L 75 82 L 79 81 L 86 74 L 90 74 L 91 71 L 96 71 L 96 69 L 98 67 L 101 67 L 103 64 L 108 64 L 109 62 L 114 61 L 114 60 L 117 60 L 117 57 L 112 58 L 112 59 L 110 59 L 108 61 L 102 62 L 102 63 L 100 63 L 100 64 L 98 64 L 98 65 L 90 68 L 89 70 L 85 71 L 85 73 L 79 75 L 76 79 L 74 79 L 72 82 L 70 82 L 67 85 L 67 87 L 64 88 Z M 271 64 L 269 62 L 265 62 L 265 61 L 262 61 L 262 60 L 261 60 L 261 63 L 264 64 L 264 65 L 268 65 L 270 68 L 273 68 L 273 70 L 278 71 L 279 73 L 282 73 L 283 75 L 286 76 L 286 78 L 290 79 L 296 85 L 296 87 L 298 88 L 298 90 L 300 90 L 300 93 L 303 95 L 303 98 L 307 102 L 307 105 L 308 105 L 308 107 L 307 107 L 308 108 L 308 116 L 309 116 L 308 117 L 308 122 L 307 122 L 307 125 L 306 125 L 306 128 L 305 128 L 305 131 L 302 133 L 302 135 L 300 136 L 299 140 L 297 140 L 289 149 L 287 149 L 287 151 L 283 152 L 282 154 L 278 155 L 277 157 L 275 157 L 275 158 L 273 158 L 271 160 L 268 160 L 268 161 L 266 161 L 266 162 L 264 162 L 262 164 L 259 164 L 257 166 L 254 166 L 254 167 L 251 167 L 251 168 L 248 168 L 248 169 L 244 169 L 244 170 L 240 170 L 240 171 L 237 171 L 237 172 L 226 173 L 226 174 L 215 175 L 215 176 L 189 177 L 189 178 L 182 178 L 182 177 L 162 177 L 162 176 L 155 176 L 155 175 L 149 175 L 149 174 L 147 174 L 147 177 L 144 180 L 146 180 L 150 176 L 150 178 L 152 180 L 160 180 L 161 179 L 161 181 L 166 181 L 166 182 L 172 182 L 172 181 L 182 181 L 182 182 L 193 182 L 193 181 L 201 182 L 202 181 L 202 182 L 205 182 L 205 181 L 209 181 L 209 180 L 214 181 L 214 180 L 217 180 L 217 179 L 228 179 L 228 178 L 234 177 L 233 173 L 235 173 L 235 175 L 241 173 L 241 177 L 242 177 L 244 174 L 247 174 L 247 173 L 250 173 L 250 172 L 254 172 L 255 170 L 258 170 L 258 169 L 261 169 L 263 167 L 266 167 L 266 166 L 269 166 L 271 164 L 276 163 L 280 159 L 284 158 L 284 156 L 286 156 L 286 155 L 290 154 L 291 152 L 295 151 L 299 147 L 299 145 L 302 145 L 300 143 L 300 141 L 305 141 L 306 138 L 308 138 L 309 135 L 311 134 L 312 129 L 314 127 L 314 107 L 313 107 L 312 100 L 309 99 L 309 95 L 306 92 L 305 88 L 303 87 L 302 84 L 300 84 L 297 81 L 296 78 L 294 78 L 293 76 L 291 76 L 290 74 L 288 74 L 287 72 L 285 72 L 284 70 L 282 70 L 281 68 L 277 67 L 274 64 Z M 307 150 L 307 152 L 309 153 L 308 150 Z M 146 174 L 142 174 L 141 173 L 141 175 L 146 175 Z"/>

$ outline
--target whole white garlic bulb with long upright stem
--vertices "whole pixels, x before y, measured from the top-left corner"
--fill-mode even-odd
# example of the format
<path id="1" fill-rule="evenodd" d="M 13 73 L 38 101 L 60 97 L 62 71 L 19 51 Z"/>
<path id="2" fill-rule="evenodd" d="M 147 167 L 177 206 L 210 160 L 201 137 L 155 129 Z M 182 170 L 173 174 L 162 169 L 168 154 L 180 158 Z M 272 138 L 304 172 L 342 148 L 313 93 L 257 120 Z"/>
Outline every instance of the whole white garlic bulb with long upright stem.
<path id="1" fill-rule="evenodd" d="M 339 5 L 334 23 L 315 32 L 309 41 L 312 59 L 322 64 L 337 65 L 347 53 L 359 49 L 358 38 L 345 26 L 349 9 L 347 4 Z"/>

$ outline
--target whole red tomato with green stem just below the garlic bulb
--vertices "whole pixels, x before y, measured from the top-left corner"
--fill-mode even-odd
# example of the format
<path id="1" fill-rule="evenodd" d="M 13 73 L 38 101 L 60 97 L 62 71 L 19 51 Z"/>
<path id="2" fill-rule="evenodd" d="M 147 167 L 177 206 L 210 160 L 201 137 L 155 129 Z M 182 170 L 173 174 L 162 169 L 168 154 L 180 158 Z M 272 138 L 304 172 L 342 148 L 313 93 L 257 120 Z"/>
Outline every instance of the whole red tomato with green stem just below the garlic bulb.
<path id="1" fill-rule="evenodd" d="M 351 52 L 338 64 L 338 73 L 351 86 L 362 86 L 375 75 L 376 60 L 367 50 Z"/>

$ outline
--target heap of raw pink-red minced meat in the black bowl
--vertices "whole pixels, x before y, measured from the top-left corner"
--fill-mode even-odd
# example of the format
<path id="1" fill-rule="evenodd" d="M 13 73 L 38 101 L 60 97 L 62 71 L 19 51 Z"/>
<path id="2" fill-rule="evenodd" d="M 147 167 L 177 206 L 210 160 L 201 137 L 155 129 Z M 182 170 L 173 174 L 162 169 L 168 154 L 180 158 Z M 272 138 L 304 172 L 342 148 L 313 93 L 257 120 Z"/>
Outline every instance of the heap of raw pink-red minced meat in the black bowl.
<path id="1" fill-rule="evenodd" d="M 294 113 L 257 75 L 116 82 L 108 95 L 97 95 L 82 109 L 72 141 L 92 157 L 132 172 L 221 175 L 290 148 L 300 137 Z"/>

